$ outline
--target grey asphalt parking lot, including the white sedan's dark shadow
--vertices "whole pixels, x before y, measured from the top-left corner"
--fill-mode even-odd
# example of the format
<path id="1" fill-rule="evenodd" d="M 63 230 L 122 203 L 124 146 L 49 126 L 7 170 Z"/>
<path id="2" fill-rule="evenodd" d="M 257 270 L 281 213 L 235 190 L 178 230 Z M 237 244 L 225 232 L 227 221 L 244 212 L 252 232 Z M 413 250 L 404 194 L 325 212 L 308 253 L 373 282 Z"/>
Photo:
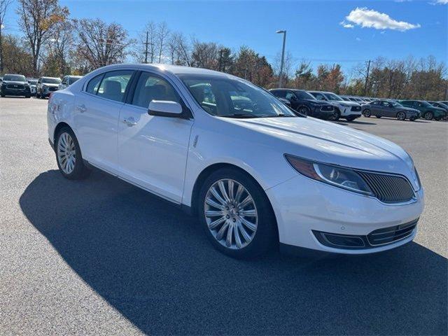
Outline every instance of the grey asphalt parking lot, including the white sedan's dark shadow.
<path id="1" fill-rule="evenodd" d="M 448 123 L 340 122 L 414 158 L 426 209 L 412 243 L 241 261 L 143 190 L 63 179 L 46 105 L 0 98 L 0 334 L 447 335 Z"/>

